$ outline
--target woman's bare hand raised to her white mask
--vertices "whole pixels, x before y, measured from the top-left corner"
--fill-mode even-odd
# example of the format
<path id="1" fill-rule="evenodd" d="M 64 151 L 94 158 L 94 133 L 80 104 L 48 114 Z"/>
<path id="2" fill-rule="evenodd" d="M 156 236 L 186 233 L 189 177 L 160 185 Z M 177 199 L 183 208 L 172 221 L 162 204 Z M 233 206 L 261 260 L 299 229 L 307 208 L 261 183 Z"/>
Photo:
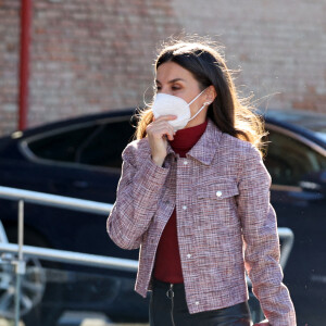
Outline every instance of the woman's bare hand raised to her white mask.
<path id="1" fill-rule="evenodd" d="M 153 122 L 146 128 L 151 147 L 152 160 L 160 166 L 162 166 L 167 154 L 166 137 L 168 140 L 173 140 L 173 136 L 175 134 L 168 121 L 175 118 L 177 118 L 176 115 L 162 115 L 156 120 L 153 118 Z"/>

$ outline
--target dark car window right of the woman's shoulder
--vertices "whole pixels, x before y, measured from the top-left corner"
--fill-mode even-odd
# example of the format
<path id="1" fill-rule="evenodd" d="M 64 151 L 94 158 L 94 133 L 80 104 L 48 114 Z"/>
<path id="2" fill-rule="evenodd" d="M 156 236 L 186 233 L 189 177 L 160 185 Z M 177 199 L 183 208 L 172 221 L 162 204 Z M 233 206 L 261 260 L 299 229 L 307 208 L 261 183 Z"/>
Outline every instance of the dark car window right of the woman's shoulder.
<path id="1" fill-rule="evenodd" d="M 299 186 L 311 173 L 326 170 L 326 158 L 287 135 L 268 130 L 265 165 L 273 184 Z"/>

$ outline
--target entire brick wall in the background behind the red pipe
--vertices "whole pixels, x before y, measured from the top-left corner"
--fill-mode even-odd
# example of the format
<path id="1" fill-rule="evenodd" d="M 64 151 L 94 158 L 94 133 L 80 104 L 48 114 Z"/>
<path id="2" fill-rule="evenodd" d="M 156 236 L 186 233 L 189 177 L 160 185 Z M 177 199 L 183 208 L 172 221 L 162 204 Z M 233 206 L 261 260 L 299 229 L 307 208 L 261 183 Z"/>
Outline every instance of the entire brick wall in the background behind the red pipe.
<path id="1" fill-rule="evenodd" d="M 158 42 L 181 30 L 222 42 L 228 66 L 242 71 L 236 85 L 265 98 L 263 106 L 326 112 L 325 1 L 34 0 L 33 7 L 29 126 L 141 105 L 151 96 Z M 0 134 L 16 128 L 18 13 L 20 0 L 0 0 Z"/>

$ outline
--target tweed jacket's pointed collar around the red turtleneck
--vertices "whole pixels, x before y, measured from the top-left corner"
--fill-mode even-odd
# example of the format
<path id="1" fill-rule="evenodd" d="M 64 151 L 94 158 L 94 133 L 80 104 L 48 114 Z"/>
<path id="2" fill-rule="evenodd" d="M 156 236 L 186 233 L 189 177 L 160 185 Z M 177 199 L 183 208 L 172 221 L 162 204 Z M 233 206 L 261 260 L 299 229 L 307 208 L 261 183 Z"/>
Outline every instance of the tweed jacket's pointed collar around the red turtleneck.
<path id="1" fill-rule="evenodd" d="M 187 156 L 191 156 L 205 165 L 211 164 L 216 152 L 216 147 L 223 134 L 223 131 L 214 124 L 214 122 L 210 117 L 208 117 L 208 120 L 209 123 L 204 133 L 197 141 L 197 143 L 191 148 L 191 150 L 187 153 Z M 176 155 L 168 141 L 166 150 L 167 155 Z"/>

